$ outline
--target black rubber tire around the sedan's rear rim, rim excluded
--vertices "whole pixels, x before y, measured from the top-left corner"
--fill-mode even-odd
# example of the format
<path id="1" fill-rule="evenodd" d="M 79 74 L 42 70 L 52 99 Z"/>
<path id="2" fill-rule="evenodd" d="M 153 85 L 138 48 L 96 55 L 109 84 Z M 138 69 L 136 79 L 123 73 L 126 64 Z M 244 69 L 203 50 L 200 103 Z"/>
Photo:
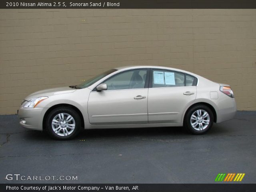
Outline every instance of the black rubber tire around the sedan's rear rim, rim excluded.
<path id="1" fill-rule="evenodd" d="M 198 122 L 198 119 L 197 120 L 191 120 L 191 117 L 194 113 L 196 113 L 197 110 L 204 110 L 208 113 L 209 115 L 209 124 L 206 126 L 206 124 L 203 124 L 204 126 L 206 126 L 205 128 L 203 128 L 202 130 L 197 130 L 197 129 L 200 129 L 199 128 L 199 124 L 196 124 L 198 126 L 198 128 L 194 128 L 192 126 L 192 123 L 196 123 Z M 201 120 L 201 119 L 200 119 Z M 205 119 L 207 120 L 207 119 Z M 191 122 L 192 121 L 192 122 Z M 192 108 L 190 108 L 188 110 L 188 112 L 186 113 L 186 116 L 184 118 L 184 126 L 185 128 L 192 134 L 205 134 L 206 132 L 208 132 L 210 130 L 210 128 L 212 127 L 212 124 L 214 122 L 214 116 L 213 116 L 213 113 L 212 113 L 212 110 L 208 107 L 208 106 L 205 106 L 205 105 L 196 105 L 196 106 L 193 106 Z"/>

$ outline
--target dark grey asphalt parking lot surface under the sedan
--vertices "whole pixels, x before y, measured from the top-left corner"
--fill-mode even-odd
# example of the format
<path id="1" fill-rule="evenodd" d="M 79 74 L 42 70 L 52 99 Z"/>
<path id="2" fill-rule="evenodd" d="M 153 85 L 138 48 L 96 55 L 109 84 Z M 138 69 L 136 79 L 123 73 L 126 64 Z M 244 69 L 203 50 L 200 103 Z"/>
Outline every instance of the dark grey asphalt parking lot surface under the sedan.
<path id="1" fill-rule="evenodd" d="M 84 130 L 68 141 L 2 115 L 0 164 L 0 183 L 214 183 L 218 173 L 245 173 L 240 183 L 256 183 L 256 112 L 238 112 L 205 135 L 181 127 L 105 129 Z"/>

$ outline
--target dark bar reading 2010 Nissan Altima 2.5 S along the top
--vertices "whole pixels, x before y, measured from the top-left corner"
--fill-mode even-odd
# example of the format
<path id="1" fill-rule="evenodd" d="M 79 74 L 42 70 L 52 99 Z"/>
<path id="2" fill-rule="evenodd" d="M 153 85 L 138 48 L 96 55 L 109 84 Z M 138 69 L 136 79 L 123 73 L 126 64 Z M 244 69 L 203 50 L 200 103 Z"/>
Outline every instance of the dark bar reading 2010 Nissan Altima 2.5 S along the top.
<path id="1" fill-rule="evenodd" d="M 256 0 L 1 0 L 1 9 L 255 9 Z"/>

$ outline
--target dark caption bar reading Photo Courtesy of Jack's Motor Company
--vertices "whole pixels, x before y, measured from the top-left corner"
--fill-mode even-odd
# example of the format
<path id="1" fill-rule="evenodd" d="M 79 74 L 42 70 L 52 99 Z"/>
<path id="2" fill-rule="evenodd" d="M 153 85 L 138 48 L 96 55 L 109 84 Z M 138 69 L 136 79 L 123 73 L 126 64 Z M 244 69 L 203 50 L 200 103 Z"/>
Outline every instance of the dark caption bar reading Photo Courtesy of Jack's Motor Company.
<path id="1" fill-rule="evenodd" d="M 1 192 L 255 192 L 256 184 L 0 184 Z"/>

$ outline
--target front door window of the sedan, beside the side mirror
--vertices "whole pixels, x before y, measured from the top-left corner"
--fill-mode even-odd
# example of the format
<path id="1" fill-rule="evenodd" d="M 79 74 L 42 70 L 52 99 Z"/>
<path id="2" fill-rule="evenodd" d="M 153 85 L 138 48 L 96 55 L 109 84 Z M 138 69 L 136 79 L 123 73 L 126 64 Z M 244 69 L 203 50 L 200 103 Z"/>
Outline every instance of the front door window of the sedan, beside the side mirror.
<path id="1" fill-rule="evenodd" d="M 144 88 L 146 82 L 146 69 L 129 70 L 107 79 L 107 90 L 139 89 Z"/>

